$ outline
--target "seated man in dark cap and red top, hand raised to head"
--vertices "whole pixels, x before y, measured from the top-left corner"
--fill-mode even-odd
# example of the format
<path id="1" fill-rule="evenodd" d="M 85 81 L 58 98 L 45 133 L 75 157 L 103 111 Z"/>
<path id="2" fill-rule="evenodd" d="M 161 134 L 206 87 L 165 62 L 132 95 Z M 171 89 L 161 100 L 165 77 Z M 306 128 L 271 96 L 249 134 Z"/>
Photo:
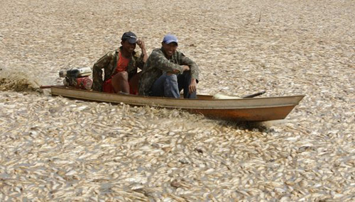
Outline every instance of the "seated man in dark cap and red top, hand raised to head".
<path id="1" fill-rule="evenodd" d="M 136 44 L 141 47 L 139 56 L 134 51 Z M 132 32 L 126 32 L 121 38 L 119 49 L 107 52 L 92 68 L 92 89 L 107 93 L 138 94 L 137 67 L 142 69 L 148 58 L 143 40 L 137 40 Z M 104 80 L 102 80 L 104 69 Z"/>

